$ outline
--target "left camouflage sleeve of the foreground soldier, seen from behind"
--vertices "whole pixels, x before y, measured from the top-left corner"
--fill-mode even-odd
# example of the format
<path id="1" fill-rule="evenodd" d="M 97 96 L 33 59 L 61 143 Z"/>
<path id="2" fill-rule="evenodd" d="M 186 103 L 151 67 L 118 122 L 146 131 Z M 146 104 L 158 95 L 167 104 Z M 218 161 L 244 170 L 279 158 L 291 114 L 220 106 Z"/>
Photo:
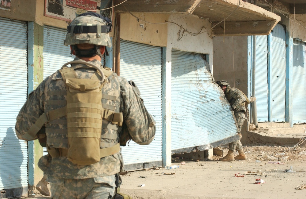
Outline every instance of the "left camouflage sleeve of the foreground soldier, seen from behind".
<path id="1" fill-rule="evenodd" d="M 15 125 L 16 135 L 19 139 L 26 141 L 37 139 L 37 136 L 33 139 L 25 139 L 23 135 L 28 132 L 29 128 L 35 124 L 39 116 L 43 114 L 43 91 L 44 82 L 29 94 L 27 101 L 19 111 Z"/>

